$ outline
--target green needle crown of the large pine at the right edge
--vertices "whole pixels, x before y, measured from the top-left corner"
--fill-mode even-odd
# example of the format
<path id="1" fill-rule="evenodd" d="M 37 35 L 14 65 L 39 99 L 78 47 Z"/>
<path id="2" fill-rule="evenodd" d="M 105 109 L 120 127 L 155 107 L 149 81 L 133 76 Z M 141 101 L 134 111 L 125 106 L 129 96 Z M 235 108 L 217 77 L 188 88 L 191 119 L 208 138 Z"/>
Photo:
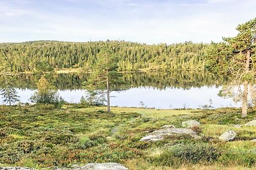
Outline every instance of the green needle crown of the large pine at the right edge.
<path id="1" fill-rule="evenodd" d="M 236 27 L 238 34 L 232 38 L 223 38 L 223 43 L 211 43 L 208 49 L 205 68 L 216 74 L 229 74 L 241 76 L 246 69 L 246 55 L 250 53 L 248 71 L 253 71 L 255 66 L 255 35 L 256 18 Z M 232 73 L 232 74 L 230 74 Z M 246 72 L 244 81 L 252 80 L 253 76 Z"/>

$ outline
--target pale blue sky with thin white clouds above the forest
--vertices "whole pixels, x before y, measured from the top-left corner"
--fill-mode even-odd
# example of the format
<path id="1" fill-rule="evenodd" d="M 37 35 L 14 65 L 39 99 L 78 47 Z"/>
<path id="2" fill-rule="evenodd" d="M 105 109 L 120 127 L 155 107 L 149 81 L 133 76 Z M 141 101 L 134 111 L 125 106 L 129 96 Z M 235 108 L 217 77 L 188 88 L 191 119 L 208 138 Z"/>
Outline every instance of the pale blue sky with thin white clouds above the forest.
<path id="1" fill-rule="evenodd" d="M 0 42 L 221 41 L 256 17 L 255 0 L 0 0 Z"/>

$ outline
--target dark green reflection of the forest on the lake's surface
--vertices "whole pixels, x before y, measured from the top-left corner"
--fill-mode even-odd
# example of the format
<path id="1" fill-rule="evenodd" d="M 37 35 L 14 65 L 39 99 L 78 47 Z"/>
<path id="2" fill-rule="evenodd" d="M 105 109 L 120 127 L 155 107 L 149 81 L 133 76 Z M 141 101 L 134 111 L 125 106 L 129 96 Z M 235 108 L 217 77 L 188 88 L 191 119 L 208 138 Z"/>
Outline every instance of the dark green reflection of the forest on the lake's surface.
<path id="1" fill-rule="evenodd" d="M 54 85 L 54 89 L 59 90 L 86 89 L 87 87 L 83 82 L 88 81 L 89 78 L 88 74 L 82 73 L 45 74 L 44 76 L 51 85 Z M 19 74 L 8 76 L 8 79 L 12 78 L 13 87 L 17 89 L 36 90 L 36 83 L 40 80 L 40 77 L 41 76 L 38 74 Z M 220 77 L 204 71 L 124 73 L 122 79 L 127 83 L 125 87 L 150 86 L 160 90 L 166 89 L 166 87 L 179 89 L 212 85 L 219 87 L 220 85 L 225 85 L 230 82 L 225 76 Z M 0 84 L 0 87 L 3 87 L 3 84 Z M 86 98 L 86 94 L 84 98 Z"/>

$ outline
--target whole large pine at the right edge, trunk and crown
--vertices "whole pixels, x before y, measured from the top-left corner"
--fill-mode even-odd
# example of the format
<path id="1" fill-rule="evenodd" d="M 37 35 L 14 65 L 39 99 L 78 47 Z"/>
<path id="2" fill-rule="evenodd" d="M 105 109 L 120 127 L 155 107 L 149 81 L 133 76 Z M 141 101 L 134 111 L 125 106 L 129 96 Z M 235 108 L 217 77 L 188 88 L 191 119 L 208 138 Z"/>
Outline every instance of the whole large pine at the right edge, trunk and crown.
<path id="1" fill-rule="evenodd" d="M 217 74 L 233 77 L 232 86 L 239 87 L 238 96 L 242 100 L 242 117 L 248 109 L 248 88 L 256 75 L 256 18 L 237 26 L 238 34 L 223 38 L 225 42 L 212 44 L 209 51 L 207 69 Z M 243 84 L 243 92 L 241 90 Z M 223 90 L 226 91 L 226 90 Z"/>

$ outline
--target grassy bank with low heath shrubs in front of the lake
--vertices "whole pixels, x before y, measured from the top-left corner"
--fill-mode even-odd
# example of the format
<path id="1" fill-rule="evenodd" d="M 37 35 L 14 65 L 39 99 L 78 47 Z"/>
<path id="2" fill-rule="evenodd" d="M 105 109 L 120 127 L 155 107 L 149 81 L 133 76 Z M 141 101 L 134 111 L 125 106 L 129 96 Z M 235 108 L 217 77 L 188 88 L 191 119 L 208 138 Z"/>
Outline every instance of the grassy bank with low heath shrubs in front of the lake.
<path id="1" fill-rule="evenodd" d="M 234 127 L 255 118 L 238 109 L 147 110 L 143 108 L 54 108 L 0 106 L 0 165 L 54 167 L 88 162 L 118 162 L 129 169 L 255 169 L 253 127 Z M 140 139 L 163 125 L 181 127 L 183 120 L 199 120 L 202 139 L 173 136 L 163 141 Z M 234 141 L 218 136 L 237 132 Z M 184 154 L 183 154 L 184 153 Z"/>

